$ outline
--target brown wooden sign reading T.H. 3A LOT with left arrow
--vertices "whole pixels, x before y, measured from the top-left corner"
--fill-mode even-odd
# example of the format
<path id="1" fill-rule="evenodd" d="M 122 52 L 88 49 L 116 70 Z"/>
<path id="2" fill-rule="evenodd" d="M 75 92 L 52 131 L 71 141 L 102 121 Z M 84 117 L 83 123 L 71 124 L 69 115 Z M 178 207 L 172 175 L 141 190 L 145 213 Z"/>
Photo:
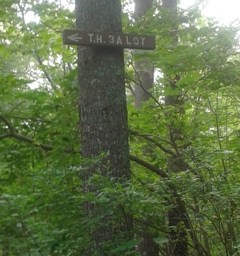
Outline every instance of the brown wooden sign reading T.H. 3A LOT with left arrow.
<path id="1" fill-rule="evenodd" d="M 155 36 L 140 34 L 64 30 L 62 38 L 64 44 L 71 45 L 102 45 L 145 50 L 156 48 Z"/>

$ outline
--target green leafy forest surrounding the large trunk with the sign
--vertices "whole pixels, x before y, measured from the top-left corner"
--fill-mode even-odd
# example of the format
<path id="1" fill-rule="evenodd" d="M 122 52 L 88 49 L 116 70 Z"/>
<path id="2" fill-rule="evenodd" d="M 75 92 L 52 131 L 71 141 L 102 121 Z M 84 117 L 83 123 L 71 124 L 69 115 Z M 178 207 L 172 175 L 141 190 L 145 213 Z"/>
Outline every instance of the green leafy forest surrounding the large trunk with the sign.
<path id="1" fill-rule="evenodd" d="M 200 2 L 174 12 L 153 1 L 136 17 L 122 1 L 123 32 L 156 36 L 154 51 L 125 51 L 132 177 L 123 185 L 98 170 L 98 193 L 83 194 L 86 162 L 107 152 L 81 157 L 77 47 L 62 45 L 75 13 L 1 0 L 1 255 L 84 255 L 104 218 L 86 223 L 86 201 L 133 216 L 134 239 L 99 244 L 102 255 L 239 255 L 239 21 L 203 17 Z"/>

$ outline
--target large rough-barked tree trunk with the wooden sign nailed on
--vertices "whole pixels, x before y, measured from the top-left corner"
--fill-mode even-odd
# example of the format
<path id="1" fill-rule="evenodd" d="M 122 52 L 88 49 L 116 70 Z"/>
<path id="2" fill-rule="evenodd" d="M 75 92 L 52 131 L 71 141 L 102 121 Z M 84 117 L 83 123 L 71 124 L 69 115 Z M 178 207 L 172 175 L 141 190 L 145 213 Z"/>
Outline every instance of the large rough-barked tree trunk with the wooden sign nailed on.
<path id="1" fill-rule="evenodd" d="M 121 1 L 76 0 L 76 18 L 78 30 L 121 32 Z M 101 152 L 106 153 L 98 162 L 89 164 L 82 175 L 84 194 L 97 193 L 101 185 L 88 183 L 95 173 L 114 177 L 121 183 L 130 179 L 123 49 L 78 47 L 78 79 L 82 157 L 93 159 Z M 84 255 L 123 255 L 123 251 L 107 251 L 106 242 L 108 248 L 114 249 L 119 245 L 117 241 L 121 244 L 132 238 L 132 218 L 128 212 L 119 206 L 115 216 L 106 214 L 106 209 L 108 205 L 84 205 L 90 237 Z M 97 216 L 102 217 L 96 224 L 88 225 Z"/>

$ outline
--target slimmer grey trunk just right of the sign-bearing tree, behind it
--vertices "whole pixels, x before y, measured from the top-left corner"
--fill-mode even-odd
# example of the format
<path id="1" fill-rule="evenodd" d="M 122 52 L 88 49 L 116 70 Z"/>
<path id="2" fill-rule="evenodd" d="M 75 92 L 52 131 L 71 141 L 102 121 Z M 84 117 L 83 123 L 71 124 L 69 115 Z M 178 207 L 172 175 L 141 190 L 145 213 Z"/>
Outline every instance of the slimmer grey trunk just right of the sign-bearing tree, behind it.
<path id="1" fill-rule="evenodd" d="M 134 18 L 138 20 L 144 16 L 147 10 L 152 8 L 153 0 L 134 0 L 134 2 Z M 139 109 L 144 101 L 148 101 L 150 99 L 149 94 L 147 94 L 145 90 L 149 91 L 150 88 L 152 88 L 152 84 L 154 83 L 154 67 L 146 67 L 146 60 L 141 60 L 135 63 L 135 68 L 136 80 L 139 84 L 141 84 L 141 86 L 136 84 L 134 88 L 135 107 L 136 109 Z M 143 90 L 142 87 L 145 90 Z"/>

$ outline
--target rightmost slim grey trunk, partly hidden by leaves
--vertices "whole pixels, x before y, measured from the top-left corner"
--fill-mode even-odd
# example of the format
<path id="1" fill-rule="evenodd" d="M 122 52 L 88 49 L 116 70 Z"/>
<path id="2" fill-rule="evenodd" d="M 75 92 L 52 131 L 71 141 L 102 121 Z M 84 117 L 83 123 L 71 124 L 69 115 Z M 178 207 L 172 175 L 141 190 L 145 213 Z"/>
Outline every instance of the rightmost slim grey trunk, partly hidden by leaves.
<path id="1" fill-rule="evenodd" d="M 171 10 L 173 20 L 176 18 L 177 14 L 177 0 L 163 0 L 162 7 Z M 178 38 L 176 37 L 177 25 L 172 28 L 171 36 L 173 37 L 173 42 L 177 45 Z M 176 90 L 176 82 L 180 79 L 179 75 L 176 75 L 174 79 L 169 79 L 165 86 L 170 86 L 172 90 Z M 184 114 L 184 109 L 180 107 L 180 97 L 181 94 L 176 96 L 165 96 L 165 106 L 176 106 L 178 107 L 178 111 Z M 182 140 L 181 134 L 182 131 L 175 127 L 174 120 L 170 123 L 169 127 L 169 138 L 173 144 L 175 144 L 176 140 Z M 175 144 L 176 145 L 176 144 Z M 181 157 L 179 159 L 174 159 L 173 157 L 169 157 L 167 161 L 169 172 L 182 172 L 186 170 L 186 164 L 182 161 Z M 172 243 L 170 245 L 171 255 L 189 255 L 189 251 L 187 248 L 187 231 L 186 229 L 191 230 L 190 236 L 193 240 L 193 244 L 195 247 L 195 251 L 197 255 L 211 255 L 211 252 L 208 251 L 209 244 L 206 241 L 206 249 L 203 248 L 202 244 L 200 244 L 197 234 L 193 230 L 193 227 L 189 225 L 189 220 L 186 218 L 186 211 L 183 211 L 182 207 L 176 205 L 175 208 L 171 209 L 168 213 L 169 215 L 169 226 L 175 226 L 176 231 L 171 231 L 171 240 Z M 183 227 L 185 225 L 186 228 Z"/>

